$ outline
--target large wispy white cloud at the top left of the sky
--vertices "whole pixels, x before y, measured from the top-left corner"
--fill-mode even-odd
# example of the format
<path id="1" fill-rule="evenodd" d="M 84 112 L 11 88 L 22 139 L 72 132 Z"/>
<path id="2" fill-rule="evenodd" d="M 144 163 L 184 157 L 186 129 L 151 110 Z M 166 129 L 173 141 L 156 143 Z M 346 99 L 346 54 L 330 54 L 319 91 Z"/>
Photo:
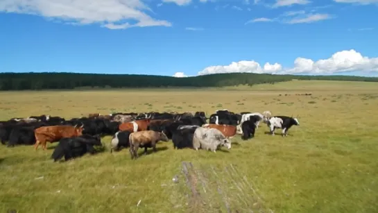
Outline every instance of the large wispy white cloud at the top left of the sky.
<path id="1" fill-rule="evenodd" d="M 70 24 L 100 24 L 110 29 L 171 26 L 154 19 L 141 0 L 1 0 L 0 12 L 40 15 Z"/>

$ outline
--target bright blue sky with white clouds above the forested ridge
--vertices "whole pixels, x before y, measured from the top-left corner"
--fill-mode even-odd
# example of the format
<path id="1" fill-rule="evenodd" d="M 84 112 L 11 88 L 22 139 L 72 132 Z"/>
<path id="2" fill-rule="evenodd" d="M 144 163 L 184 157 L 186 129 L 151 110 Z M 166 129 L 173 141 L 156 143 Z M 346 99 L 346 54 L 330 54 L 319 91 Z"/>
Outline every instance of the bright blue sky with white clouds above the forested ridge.
<path id="1" fill-rule="evenodd" d="M 378 76 L 378 0 L 0 0 L 0 72 Z"/>

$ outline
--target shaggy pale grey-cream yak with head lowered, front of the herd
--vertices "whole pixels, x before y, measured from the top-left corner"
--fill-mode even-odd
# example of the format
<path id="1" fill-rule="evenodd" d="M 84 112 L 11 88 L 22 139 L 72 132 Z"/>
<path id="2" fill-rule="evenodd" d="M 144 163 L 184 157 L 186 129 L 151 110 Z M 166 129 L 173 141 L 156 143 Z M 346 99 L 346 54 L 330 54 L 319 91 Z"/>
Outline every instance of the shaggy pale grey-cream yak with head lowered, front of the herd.
<path id="1" fill-rule="evenodd" d="M 230 139 L 227 139 L 221 131 L 215 128 L 196 128 L 193 137 L 193 148 L 196 150 L 198 150 L 198 148 L 211 150 L 215 153 L 218 146 L 225 146 L 230 149 Z"/>

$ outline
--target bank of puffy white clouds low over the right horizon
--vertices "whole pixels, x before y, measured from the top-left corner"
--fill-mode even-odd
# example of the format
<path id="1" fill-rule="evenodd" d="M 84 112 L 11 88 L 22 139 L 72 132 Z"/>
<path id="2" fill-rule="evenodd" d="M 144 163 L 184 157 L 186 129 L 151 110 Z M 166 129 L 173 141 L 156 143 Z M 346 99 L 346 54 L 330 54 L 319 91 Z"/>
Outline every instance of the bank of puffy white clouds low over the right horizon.
<path id="1" fill-rule="evenodd" d="M 226 66 L 206 67 L 198 75 L 221 73 L 256 73 L 256 74 L 338 74 L 347 71 L 376 71 L 378 58 L 368 58 L 350 49 L 334 53 L 331 58 L 314 62 L 308 58 L 296 58 L 294 67 L 283 68 L 282 65 L 266 63 L 264 67 L 254 60 L 232 62 Z"/>

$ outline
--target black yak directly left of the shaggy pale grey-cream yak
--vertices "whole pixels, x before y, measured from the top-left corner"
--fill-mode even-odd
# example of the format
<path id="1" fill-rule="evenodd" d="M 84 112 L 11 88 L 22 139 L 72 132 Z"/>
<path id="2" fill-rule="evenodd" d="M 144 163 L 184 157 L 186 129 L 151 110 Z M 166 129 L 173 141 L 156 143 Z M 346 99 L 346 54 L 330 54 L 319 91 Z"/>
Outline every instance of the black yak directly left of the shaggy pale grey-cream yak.
<path id="1" fill-rule="evenodd" d="M 179 126 L 178 130 L 173 132 L 173 148 L 193 148 L 194 132 L 199 126 Z"/>

